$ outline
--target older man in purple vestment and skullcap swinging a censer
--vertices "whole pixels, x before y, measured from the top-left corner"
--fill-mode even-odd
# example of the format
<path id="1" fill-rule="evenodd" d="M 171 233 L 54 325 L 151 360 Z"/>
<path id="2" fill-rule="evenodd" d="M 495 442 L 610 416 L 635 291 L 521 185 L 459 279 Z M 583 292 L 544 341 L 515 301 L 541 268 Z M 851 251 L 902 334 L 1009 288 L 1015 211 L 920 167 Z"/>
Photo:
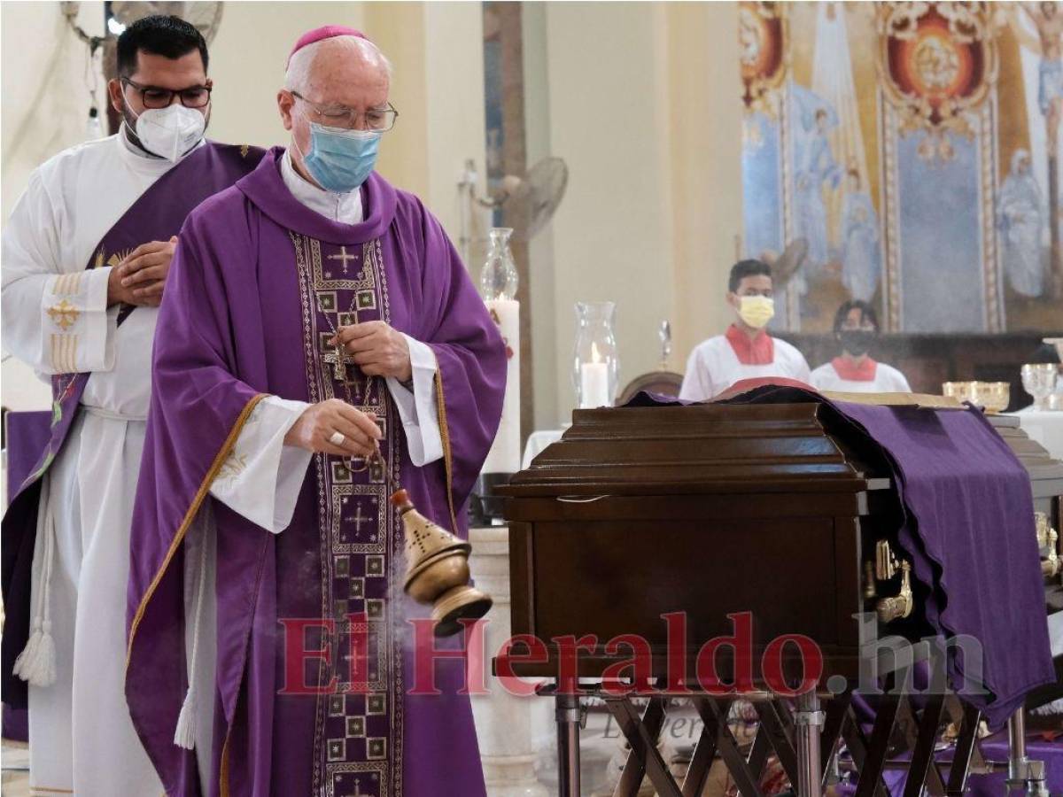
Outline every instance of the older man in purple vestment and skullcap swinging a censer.
<path id="1" fill-rule="evenodd" d="M 279 94 L 291 147 L 180 236 L 125 684 L 169 795 L 484 794 L 461 662 L 409 694 L 427 612 L 402 592 L 387 498 L 401 485 L 465 535 L 505 352 L 439 222 L 372 171 L 388 74 L 356 31 L 305 35 Z"/>

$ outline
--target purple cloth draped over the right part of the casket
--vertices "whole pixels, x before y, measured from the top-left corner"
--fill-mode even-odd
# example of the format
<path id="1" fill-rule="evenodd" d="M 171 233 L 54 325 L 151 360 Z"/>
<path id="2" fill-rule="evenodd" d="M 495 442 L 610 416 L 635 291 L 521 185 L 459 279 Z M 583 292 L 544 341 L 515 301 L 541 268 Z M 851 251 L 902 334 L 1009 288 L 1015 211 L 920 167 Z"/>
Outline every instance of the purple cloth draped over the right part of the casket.
<path id="1" fill-rule="evenodd" d="M 927 621 L 945 638 L 963 634 L 981 644 L 988 694 L 962 689 L 978 674 L 950 647 L 951 685 L 992 728 L 1027 693 L 1056 680 L 1029 475 L 979 410 L 834 402 L 771 385 L 727 401 L 820 402 L 833 411 L 828 425 L 847 424 L 881 450 L 905 512 L 898 540 L 929 593 Z M 675 404 L 640 394 L 628 406 Z"/>

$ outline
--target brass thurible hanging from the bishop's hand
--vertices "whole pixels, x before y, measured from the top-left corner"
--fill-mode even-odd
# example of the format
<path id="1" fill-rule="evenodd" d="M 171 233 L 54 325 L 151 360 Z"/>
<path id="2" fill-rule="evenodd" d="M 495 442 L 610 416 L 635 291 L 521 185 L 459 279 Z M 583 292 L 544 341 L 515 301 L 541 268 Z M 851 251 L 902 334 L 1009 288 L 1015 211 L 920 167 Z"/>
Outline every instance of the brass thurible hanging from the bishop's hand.
<path id="1" fill-rule="evenodd" d="M 437 637 L 458 633 L 461 620 L 479 620 L 491 596 L 469 586 L 472 545 L 414 508 L 405 490 L 391 496 L 406 532 L 406 581 L 403 589 L 419 604 L 432 606 Z"/>

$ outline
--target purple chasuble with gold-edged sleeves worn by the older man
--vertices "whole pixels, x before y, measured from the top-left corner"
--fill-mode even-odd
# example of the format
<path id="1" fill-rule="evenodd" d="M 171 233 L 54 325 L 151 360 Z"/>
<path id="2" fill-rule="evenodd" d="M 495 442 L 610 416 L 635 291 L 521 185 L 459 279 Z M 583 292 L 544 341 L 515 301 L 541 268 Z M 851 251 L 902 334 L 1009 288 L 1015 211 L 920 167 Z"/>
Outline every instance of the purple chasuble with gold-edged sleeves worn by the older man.
<path id="1" fill-rule="evenodd" d="M 273 149 L 188 218 L 159 313 L 133 521 L 125 684 L 133 722 L 167 794 L 199 794 L 195 757 L 172 740 L 187 666 L 181 543 L 207 509 L 217 527 L 218 649 L 206 791 L 482 795 L 471 707 L 457 694 L 462 661 L 436 664 L 441 694 L 407 694 L 406 621 L 427 610 L 402 592 L 402 525 L 387 498 L 401 484 L 424 514 L 448 527 L 456 515 L 455 530 L 466 535 L 463 505 L 502 412 L 504 346 L 417 198 L 374 173 L 362 187 L 366 220 L 333 222 L 285 187 L 283 152 Z M 436 355 L 441 461 L 410 463 L 387 386 L 338 362 L 325 343 L 334 326 L 372 320 Z M 266 394 L 311 403 L 350 395 L 384 431 L 383 467 L 315 456 L 280 535 L 207 494 Z M 287 633 L 299 623 L 311 627 L 293 641 Z M 367 641 L 354 686 L 344 658 L 352 634 Z M 330 665 L 306 658 L 296 667 L 303 683 L 286 682 L 293 644 L 327 648 Z M 319 694 L 299 694 L 299 685 Z"/>

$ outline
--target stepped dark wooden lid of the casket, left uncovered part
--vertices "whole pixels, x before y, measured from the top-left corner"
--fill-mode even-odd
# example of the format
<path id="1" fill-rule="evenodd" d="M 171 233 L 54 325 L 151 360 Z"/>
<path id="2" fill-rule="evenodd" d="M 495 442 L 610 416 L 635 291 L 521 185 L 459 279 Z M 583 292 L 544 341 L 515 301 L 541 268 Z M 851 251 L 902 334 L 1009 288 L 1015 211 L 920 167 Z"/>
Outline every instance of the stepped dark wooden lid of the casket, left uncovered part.
<path id="1" fill-rule="evenodd" d="M 511 497 L 695 492 L 857 493 L 890 479 L 828 429 L 815 402 L 576 410 L 572 426 L 497 492 Z"/>

